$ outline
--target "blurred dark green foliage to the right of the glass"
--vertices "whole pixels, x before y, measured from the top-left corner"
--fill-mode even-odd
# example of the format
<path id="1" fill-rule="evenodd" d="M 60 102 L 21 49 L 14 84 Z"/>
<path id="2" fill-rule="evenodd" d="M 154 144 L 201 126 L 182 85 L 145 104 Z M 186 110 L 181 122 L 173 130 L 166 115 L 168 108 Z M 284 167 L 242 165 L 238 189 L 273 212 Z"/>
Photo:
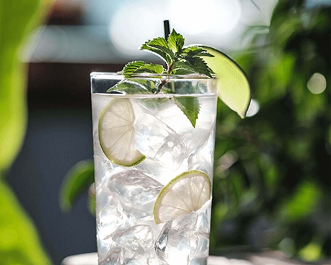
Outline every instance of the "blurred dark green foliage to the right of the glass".
<path id="1" fill-rule="evenodd" d="M 240 120 L 219 102 L 212 252 L 331 255 L 330 13 L 330 4 L 279 1 L 268 32 L 252 28 L 237 54 L 260 110 Z"/>

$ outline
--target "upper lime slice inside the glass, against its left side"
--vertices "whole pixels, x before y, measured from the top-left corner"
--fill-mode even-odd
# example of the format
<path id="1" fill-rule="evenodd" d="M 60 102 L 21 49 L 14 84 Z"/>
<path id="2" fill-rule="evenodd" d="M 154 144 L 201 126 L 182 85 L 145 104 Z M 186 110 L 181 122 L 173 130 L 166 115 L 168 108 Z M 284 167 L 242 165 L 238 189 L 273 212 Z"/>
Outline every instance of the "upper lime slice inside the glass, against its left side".
<path id="1" fill-rule="evenodd" d="M 115 98 L 99 118 L 99 141 L 103 152 L 117 165 L 132 166 L 146 157 L 136 149 L 134 111 L 127 98 Z"/>

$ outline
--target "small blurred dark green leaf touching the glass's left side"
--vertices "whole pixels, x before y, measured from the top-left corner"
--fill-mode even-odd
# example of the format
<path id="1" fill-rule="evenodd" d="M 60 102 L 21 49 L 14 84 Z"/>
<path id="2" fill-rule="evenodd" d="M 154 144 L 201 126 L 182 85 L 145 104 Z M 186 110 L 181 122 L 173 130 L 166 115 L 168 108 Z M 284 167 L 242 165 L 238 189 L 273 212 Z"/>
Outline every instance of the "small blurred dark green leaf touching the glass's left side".
<path id="1" fill-rule="evenodd" d="M 94 182 L 93 160 L 76 163 L 66 174 L 59 192 L 62 211 L 70 211 L 79 196 Z"/>

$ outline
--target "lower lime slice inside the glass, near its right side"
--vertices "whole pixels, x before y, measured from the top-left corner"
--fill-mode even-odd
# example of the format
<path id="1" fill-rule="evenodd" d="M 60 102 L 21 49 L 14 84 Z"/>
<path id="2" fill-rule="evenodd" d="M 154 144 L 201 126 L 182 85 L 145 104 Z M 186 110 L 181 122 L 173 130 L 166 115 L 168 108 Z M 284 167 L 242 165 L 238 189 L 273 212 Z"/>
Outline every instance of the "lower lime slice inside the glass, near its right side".
<path id="1" fill-rule="evenodd" d="M 199 170 L 183 172 L 158 194 L 153 208 L 155 223 L 165 223 L 197 211 L 210 196 L 211 183 L 206 173 Z"/>

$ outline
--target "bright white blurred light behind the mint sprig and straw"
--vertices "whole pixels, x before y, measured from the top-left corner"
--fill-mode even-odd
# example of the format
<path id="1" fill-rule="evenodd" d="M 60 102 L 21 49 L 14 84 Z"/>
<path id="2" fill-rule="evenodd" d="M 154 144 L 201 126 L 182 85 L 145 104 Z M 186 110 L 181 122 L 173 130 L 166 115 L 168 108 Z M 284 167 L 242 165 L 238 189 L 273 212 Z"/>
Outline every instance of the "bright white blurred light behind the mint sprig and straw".
<path id="1" fill-rule="evenodd" d="M 163 36 L 163 20 L 170 20 L 170 29 L 185 36 L 185 45 L 231 47 L 242 30 L 241 15 L 239 0 L 128 2 L 110 20 L 110 40 L 122 54 L 141 59 L 141 44 Z"/>

